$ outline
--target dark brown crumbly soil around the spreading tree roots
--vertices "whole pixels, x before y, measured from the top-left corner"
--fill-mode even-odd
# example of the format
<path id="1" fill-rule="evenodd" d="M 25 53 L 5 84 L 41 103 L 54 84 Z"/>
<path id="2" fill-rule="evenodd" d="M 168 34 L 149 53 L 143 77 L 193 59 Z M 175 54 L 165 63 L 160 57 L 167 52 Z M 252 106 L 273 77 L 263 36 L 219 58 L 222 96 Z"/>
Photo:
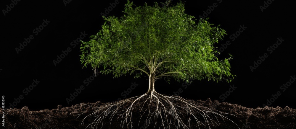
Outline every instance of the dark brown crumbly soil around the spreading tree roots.
<path id="1" fill-rule="evenodd" d="M 230 104 L 227 102 L 218 102 L 217 100 L 211 101 L 208 98 L 206 101 L 202 100 L 188 100 L 198 106 L 208 107 L 215 112 L 225 112 L 228 114 L 222 114 L 232 120 L 235 125 L 230 120 L 227 120 L 222 117 L 217 117 L 219 122 L 217 124 L 213 123 L 210 125 L 212 129 L 296 129 L 296 110 L 291 109 L 289 107 L 281 108 L 281 107 L 264 107 L 264 108 L 247 108 L 242 107 L 238 104 Z M 89 106 L 87 106 L 87 105 Z M 94 118 L 90 119 L 87 118 L 81 125 L 81 120 L 86 117 L 85 114 L 81 116 L 75 116 L 76 114 L 72 112 L 81 112 L 86 111 L 87 114 L 94 112 L 92 107 L 94 106 L 101 106 L 109 103 L 81 103 L 77 105 L 73 105 L 71 107 L 61 107 L 60 105 L 57 106 L 57 109 L 53 110 L 40 110 L 40 111 L 30 111 L 28 107 L 22 107 L 22 109 L 8 109 L 5 111 L 5 128 L 9 129 L 83 129 L 86 128 L 91 122 L 94 121 Z M 128 105 L 128 104 L 126 104 Z M 92 106 L 92 107 L 90 107 Z M 163 128 L 159 127 L 161 123 L 146 122 L 146 117 L 142 120 L 139 120 L 140 110 L 139 104 L 134 106 L 133 110 L 133 128 L 138 129 L 145 129 L 145 128 Z M 126 107 L 126 106 L 125 106 Z M 124 107 L 123 107 L 124 108 Z M 153 110 L 153 106 L 150 110 Z M 229 115 L 232 114 L 232 115 Z M 184 118 L 184 122 L 188 122 L 188 115 L 186 112 L 181 112 L 181 117 Z M 156 119 L 156 121 L 159 118 Z M 155 120 L 155 119 L 153 119 Z M 202 117 L 200 121 L 202 121 Z M 112 123 L 107 122 L 104 125 L 99 125 L 98 128 L 127 128 L 126 126 L 121 126 L 121 119 L 117 120 L 116 118 L 112 119 Z M 204 120 L 203 120 L 204 121 Z M 187 123 L 188 124 L 188 123 Z M 149 125 L 149 126 L 148 126 Z M 194 120 L 190 123 L 191 128 L 199 128 Z M 176 128 L 174 125 L 171 125 L 170 128 Z M 200 127 L 200 128 L 209 128 L 207 127 Z"/>

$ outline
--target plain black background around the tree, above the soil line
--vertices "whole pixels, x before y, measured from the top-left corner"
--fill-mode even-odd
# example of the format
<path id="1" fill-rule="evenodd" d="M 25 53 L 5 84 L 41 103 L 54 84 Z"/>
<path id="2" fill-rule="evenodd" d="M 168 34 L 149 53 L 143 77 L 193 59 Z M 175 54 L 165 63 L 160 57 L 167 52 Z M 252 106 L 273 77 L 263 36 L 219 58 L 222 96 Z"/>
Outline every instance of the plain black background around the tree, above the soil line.
<path id="1" fill-rule="evenodd" d="M 182 0 L 183 1 L 183 0 Z M 270 2 L 269 0 L 268 2 Z M 122 76 L 113 78 L 113 75 L 99 74 L 94 81 L 85 86 L 83 81 L 93 74 L 90 66 L 82 68 L 80 62 L 80 44 L 73 48 L 71 42 L 76 40 L 81 32 L 88 34 L 83 41 L 88 41 L 90 35 L 96 34 L 101 29 L 104 21 L 101 13 L 105 8 L 114 3 L 108 1 L 18 1 L 8 12 L 1 15 L 1 96 L 5 95 L 5 107 L 9 107 L 20 95 L 24 98 L 17 103 L 16 108 L 28 106 L 30 110 L 55 109 L 57 105 L 62 107 L 80 104 L 82 102 L 112 102 L 118 98 L 124 99 L 124 91 L 131 87 L 131 83 L 138 86 L 126 97 L 141 95 L 148 90 L 148 77 L 134 79 L 133 76 Z M 123 15 L 125 0 L 118 1 L 107 16 L 120 17 Z M 153 6 L 153 1 L 134 1 L 137 6 L 144 6 L 147 2 Z M 165 2 L 165 0 L 157 0 Z M 179 2 L 173 1 L 173 4 Z M 221 3 L 219 3 L 221 2 Z M 266 1 L 267 2 L 267 1 Z M 7 9 L 12 1 L 1 1 L 0 9 Z M 209 6 L 217 3 L 213 10 Z M 245 107 L 263 107 L 272 94 L 280 91 L 281 95 L 270 105 L 272 107 L 296 108 L 295 92 L 296 82 L 292 83 L 284 92 L 281 85 L 294 76 L 295 71 L 295 4 L 290 1 L 274 0 L 263 10 L 264 1 L 186 1 L 185 10 L 199 19 L 203 11 L 210 12 L 208 20 L 210 23 L 221 25 L 226 30 L 224 40 L 215 46 L 221 48 L 221 44 L 230 41 L 230 45 L 221 52 L 218 58 L 228 58 L 230 53 L 234 55 L 231 63 L 231 73 L 237 77 L 231 83 L 213 81 L 193 81 L 184 87 L 183 82 L 172 81 L 171 84 L 157 80 L 155 89 L 157 92 L 173 95 L 182 89 L 181 97 L 187 99 L 219 100 L 239 104 Z M 161 6 L 161 4 L 160 4 Z M 211 8 L 211 7 L 210 7 Z M 48 20 L 49 23 L 38 35 L 33 33 Z M 240 25 L 247 27 L 239 36 L 233 40 L 229 37 L 236 33 Z M 238 34 L 238 33 L 237 33 Z M 19 51 L 20 43 L 30 35 L 34 39 Z M 277 38 L 284 39 L 281 45 L 269 53 L 267 48 L 274 45 Z M 70 47 L 71 51 L 56 66 L 53 60 L 62 51 Z M 221 48 L 222 49 L 222 48 Z M 268 57 L 253 72 L 250 66 L 258 61 L 258 56 L 268 53 Z M 101 69 L 100 69 L 101 70 Z M 36 87 L 27 95 L 23 89 L 28 88 L 33 79 L 40 81 Z M 69 104 L 66 98 L 75 92 L 81 85 L 85 89 L 78 94 Z M 182 86 L 183 85 L 183 86 Z M 229 86 L 237 87 L 230 95 L 222 100 L 220 96 L 229 90 Z"/>

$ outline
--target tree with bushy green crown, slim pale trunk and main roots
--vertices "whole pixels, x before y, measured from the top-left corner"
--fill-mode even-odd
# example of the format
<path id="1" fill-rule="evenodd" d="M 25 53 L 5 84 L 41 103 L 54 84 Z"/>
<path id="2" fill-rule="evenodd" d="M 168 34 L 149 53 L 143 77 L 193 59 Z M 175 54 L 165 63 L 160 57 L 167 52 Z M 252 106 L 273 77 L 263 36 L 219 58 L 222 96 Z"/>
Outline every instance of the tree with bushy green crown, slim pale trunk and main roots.
<path id="1" fill-rule="evenodd" d="M 173 6 L 169 4 L 170 1 L 164 7 L 158 6 L 156 2 L 155 6 L 147 6 L 146 3 L 144 6 L 135 6 L 133 2 L 127 1 L 123 17 L 103 16 L 105 22 L 102 29 L 96 35 L 91 35 L 91 40 L 81 41 L 80 56 L 84 67 L 88 64 L 94 69 L 104 66 L 101 73 L 112 73 L 114 77 L 126 74 L 133 74 L 135 78 L 143 74 L 149 76 L 148 92 L 124 102 L 153 96 L 172 108 L 175 105 L 170 99 L 195 107 L 181 97 L 157 93 L 154 89 L 156 79 L 165 79 L 168 83 L 171 78 L 187 83 L 190 79 L 212 79 L 217 82 L 234 79 L 229 63 L 232 56 L 229 54 L 229 58 L 219 60 L 214 55 L 217 51 L 213 44 L 223 40 L 225 30 L 218 28 L 220 25 L 213 27 L 207 22 L 208 18 L 197 20 L 186 14 L 181 1 Z M 111 106 L 122 103 L 101 107 L 100 111 L 111 110 Z M 165 108 L 165 104 L 160 104 L 162 106 Z M 132 105 L 125 112 L 126 116 L 131 117 L 131 109 Z M 173 115 L 178 119 L 177 112 Z M 187 127 L 182 122 L 181 126 Z"/>

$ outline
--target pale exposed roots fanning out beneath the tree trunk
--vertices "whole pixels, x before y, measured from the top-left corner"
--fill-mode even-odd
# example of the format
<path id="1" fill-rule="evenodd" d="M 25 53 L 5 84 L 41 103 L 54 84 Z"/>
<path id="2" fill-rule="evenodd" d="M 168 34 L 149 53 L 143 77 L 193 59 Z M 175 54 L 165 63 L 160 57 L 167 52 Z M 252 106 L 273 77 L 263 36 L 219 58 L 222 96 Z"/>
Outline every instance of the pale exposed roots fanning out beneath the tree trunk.
<path id="1" fill-rule="evenodd" d="M 134 115 L 132 118 L 134 107 L 136 107 L 135 109 L 137 109 L 137 112 L 140 112 L 141 115 Z M 139 128 L 139 124 L 138 127 L 134 127 L 133 124 L 135 121 L 139 121 L 140 123 L 141 120 L 145 120 L 146 123 L 149 122 L 149 125 L 147 126 L 153 128 L 188 129 L 191 128 L 190 124 L 192 123 L 196 124 L 199 128 L 211 128 L 211 126 L 214 125 L 219 126 L 220 123 L 217 117 L 222 117 L 223 121 L 224 118 L 230 120 L 226 116 L 214 112 L 207 107 L 196 106 L 182 97 L 164 96 L 155 91 L 152 91 L 150 94 L 143 94 L 141 96 L 132 97 L 120 102 L 113 102 L 101 107 L 92 108 L 94 112 L 89 115 L 87 115 L 86 111 L 74 112 L 80 113 L 78 114 L 78 117 L 83 114 L 87 115 L 82 119 L 81 127 L 83 125 L 83 121 L 87 117 L 94 118 L 93 122 L 86 127 L 91 129 L 98 128 L 98 126 L 103 128 L 104 123 L 110 123 L 109 126 L 111 126 L 112 120 L 116 117 L 118 120 L 121 120 L 121 128 Z M 184 118 L 189 119 L 188 121 L 184 121 Z M 150 123 L 154 124 L 151 125 Z"/>

